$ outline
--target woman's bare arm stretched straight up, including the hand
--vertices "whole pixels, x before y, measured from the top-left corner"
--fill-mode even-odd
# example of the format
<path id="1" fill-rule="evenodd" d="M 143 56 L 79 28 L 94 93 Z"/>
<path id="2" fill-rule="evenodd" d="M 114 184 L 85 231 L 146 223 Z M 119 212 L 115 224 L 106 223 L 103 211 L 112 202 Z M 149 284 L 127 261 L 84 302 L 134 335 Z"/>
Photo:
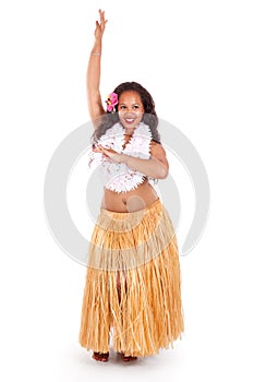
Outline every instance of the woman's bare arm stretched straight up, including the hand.
<path id="1" fill-rule="evenodd" d="M 100 85 L 100 61 L 102 49 L 102 36 L 107 20 L 105 20 L 105 12 L 99 10 L 100 21 L 96 21 L 95 43 L 90 52 L 87 73 L 86 73 L 86 92 L 87 104 L 90 119 L 94 120 L 95 127 L 98 124 L 98 117 L 106 111 L 102 107 L 99 85 Z M 97 119 L 97 121 L 96 121 Z"/>

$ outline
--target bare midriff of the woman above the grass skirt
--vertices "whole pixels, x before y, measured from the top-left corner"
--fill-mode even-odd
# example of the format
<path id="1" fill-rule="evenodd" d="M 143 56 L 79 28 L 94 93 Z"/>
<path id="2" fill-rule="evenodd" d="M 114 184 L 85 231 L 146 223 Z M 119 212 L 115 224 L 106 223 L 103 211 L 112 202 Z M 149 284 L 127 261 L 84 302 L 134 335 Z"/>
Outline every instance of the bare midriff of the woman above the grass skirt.
<path id="1" fill-rule="evenodd" d="M 114 212 L 134 212 L 147 207 L 158 199 L 158 194 L 146 178 L 136 189 L 114 192 L 105 188 L 101 208 Z"/>

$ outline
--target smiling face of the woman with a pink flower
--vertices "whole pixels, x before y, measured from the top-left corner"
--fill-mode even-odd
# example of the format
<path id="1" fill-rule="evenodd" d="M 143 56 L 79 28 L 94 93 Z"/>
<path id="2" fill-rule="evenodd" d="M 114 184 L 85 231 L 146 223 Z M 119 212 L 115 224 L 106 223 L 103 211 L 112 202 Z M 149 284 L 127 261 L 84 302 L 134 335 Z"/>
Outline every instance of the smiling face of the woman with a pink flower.
<path id="1" fill-rule="evenodd" d="M 119 119 L 125 129 L 134 129 L 145 112 L 141 96 L 135 91 L 125 91 L 119 97 Z"/>

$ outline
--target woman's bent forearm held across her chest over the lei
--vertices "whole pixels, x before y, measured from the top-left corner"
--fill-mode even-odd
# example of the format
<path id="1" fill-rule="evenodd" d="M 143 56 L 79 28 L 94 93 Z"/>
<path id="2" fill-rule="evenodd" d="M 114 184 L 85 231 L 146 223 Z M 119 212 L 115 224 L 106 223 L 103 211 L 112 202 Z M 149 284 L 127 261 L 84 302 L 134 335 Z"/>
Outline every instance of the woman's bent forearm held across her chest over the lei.
<path id="1" fill-rule="evenodd" d="M 152 156 L 149 159 L 142 159 L 122 154 L 121 162 L 150 178 L 165 179 L 168 176 L 168 168 L 154 156 Z"/>

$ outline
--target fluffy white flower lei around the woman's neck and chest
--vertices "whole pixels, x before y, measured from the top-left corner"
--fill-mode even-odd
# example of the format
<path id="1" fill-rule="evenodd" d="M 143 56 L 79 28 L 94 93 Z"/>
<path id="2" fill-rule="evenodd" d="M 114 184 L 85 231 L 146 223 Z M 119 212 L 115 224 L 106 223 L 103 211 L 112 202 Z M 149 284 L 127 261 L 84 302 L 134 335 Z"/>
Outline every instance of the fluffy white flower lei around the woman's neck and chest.
<path id="1" fill-rule="evenodd" d="M 152 141 L 149 127 L 144 122 L 140 122 L 130 141 L 122 148 L 125 143 L 124 132 L 124 128 L 118 122 L 99 138 L 98 144 L 101 144 L 105 148 L 112 148 L 118 153 L 149 159 Z M 111 191 L 126 192 L 134 190 L 146 177 L 144 174 L 128 167 L 124 163 L 116 163 L 109 158 L 105 158 L 101 153 L 92 152 L 89 157 L 89 165 L 92 163 L 101 165 L 104 186 Z"/>

